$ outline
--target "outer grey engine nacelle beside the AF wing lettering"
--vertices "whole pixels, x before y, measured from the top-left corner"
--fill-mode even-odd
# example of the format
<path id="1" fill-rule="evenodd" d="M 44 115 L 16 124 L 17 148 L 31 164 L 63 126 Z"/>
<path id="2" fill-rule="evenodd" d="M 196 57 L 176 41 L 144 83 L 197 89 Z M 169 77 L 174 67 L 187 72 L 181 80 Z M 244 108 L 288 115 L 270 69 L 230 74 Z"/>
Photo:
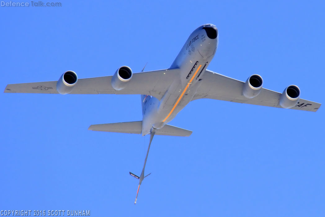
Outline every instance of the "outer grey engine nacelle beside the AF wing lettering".
<path id="1" fill-rule="evenodd" d="M 280 96 L 280 105 L 282 108 L 292 108 L 297 104 L 300 98 L 300 89 L 296 85 L 290 85 L 283 90 Z"/>

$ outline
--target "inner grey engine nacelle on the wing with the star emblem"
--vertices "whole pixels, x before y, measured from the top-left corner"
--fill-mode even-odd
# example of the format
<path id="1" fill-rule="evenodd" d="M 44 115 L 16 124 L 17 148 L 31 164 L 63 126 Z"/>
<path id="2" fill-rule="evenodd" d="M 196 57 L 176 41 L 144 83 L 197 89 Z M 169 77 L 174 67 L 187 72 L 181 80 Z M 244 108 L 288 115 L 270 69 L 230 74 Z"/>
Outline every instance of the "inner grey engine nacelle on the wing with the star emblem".
<path id="1" fill-rule="evenodd" d="M 112 87 L 115 90 L 122 90 L 132 78 L 132 70 L 128 66 L 122 66 L 116 70 L 112 77 Z"/>

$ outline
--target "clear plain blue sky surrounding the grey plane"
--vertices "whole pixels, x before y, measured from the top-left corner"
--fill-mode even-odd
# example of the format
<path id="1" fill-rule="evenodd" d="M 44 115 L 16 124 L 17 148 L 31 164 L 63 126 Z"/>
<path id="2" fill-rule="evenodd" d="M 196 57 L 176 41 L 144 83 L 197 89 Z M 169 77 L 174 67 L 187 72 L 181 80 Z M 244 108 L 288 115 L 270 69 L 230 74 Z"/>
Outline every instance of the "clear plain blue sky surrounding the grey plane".
<path id="1" fill-rule="evenodd" d="M 208 69 L 325 103 L 323 1 L 62 1 L 0 7 L 0 87 L 168 68 L 189 34 L 219 30 Z M 109 84 L 108 84 L 109 85 Z M 324 216 L 324 105 L 303 112 L 190 102 L 188 138 L 88 131 L 141 120 L 138 95 L 0 94 L 0 210 L 91 216 Z M 192 117 L 193 112 L 199 114 Z"/>

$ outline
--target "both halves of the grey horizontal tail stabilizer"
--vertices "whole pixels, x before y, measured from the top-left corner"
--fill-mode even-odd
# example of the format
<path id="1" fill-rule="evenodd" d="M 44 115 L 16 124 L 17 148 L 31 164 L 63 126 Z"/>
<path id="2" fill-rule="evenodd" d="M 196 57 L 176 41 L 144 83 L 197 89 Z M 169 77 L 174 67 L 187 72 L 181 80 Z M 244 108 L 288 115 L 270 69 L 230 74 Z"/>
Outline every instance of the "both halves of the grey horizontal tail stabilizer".
<path id="1" fill-rule="evenodd" d="M 111 123 L 111 124 L 94 124 L 94 125 L 90 125 L 88 130 L 141 134 L 142 121 L 121 122 L 121 123 Z M 165 125 L 161 129 L 156 129 L 156 135 L 190 136 L 191 134 L 192 131 L 190 130 L 174 127 L 171 125 Z"/>

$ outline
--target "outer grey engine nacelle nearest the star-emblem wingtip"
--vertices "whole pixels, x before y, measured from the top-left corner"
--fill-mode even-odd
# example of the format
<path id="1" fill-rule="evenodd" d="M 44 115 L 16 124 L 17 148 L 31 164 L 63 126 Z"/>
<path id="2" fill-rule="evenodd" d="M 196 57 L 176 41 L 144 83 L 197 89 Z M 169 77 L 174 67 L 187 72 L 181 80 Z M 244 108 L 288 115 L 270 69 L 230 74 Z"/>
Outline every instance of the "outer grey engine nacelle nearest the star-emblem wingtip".
<path id="1" fill-rule="evenodd" d="M 66 71 L 61 75 L 57 83 L 57 91 L 59 94 L 68 94 L 71 93 L 74 86 L 78 81 L 78 76 L 73 71 Z"/>

